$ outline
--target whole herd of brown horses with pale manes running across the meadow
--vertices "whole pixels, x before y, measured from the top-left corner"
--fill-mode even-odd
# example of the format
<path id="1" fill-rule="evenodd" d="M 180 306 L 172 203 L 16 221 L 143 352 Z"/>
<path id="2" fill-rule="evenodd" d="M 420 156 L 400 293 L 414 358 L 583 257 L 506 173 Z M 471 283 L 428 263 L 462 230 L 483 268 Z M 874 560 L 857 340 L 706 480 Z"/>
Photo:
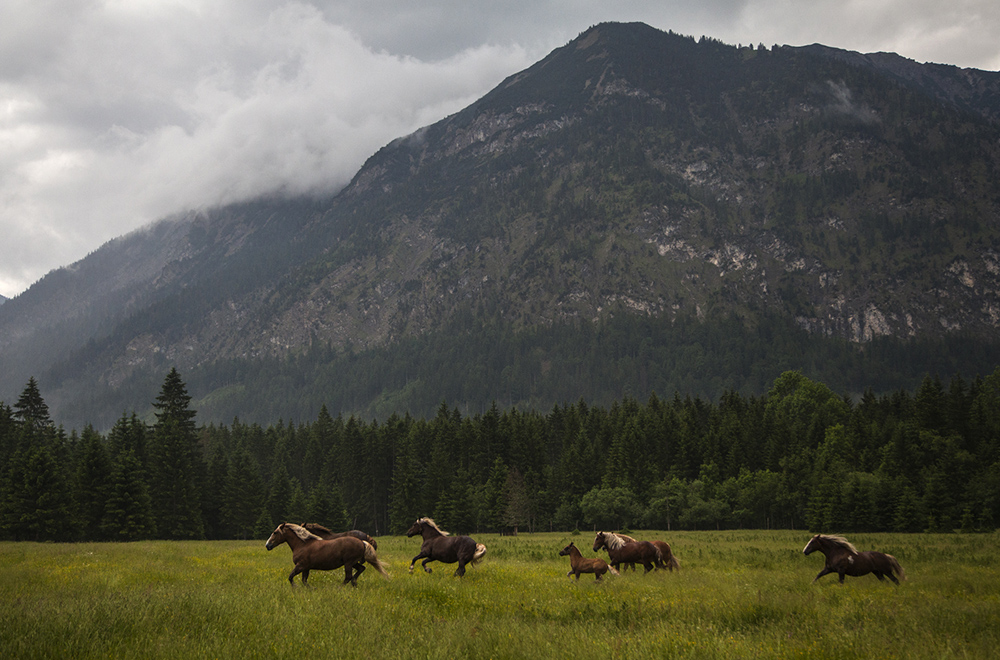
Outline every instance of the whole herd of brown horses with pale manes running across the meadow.
<path id="1" fill-rule="evenodd" d="M 486 554 L 486 546 L 477 543 L 469 536 L 452 536 L 443 531 L 430 518 L 418 518 L 406 532 L 407 537 L 420 536 L 423 540 L 420 552 L 410 561 L 410 573 L 418 559 L 423 559 L 421 567 L 427 573 L 431 568 L 429 562 L 439 561 L 445 564 L 458 563 L 455 576 L 465 575 L 465 567 L 475 566 Z M 281 523 L 267 539 L 265 548 L 273 550 L 282 543 L 287 543 L 292 550 L 294 567 L 288 574 L 289 584 L 294 585 L 296 575 L 302 575 L 302 584 L 306 586 L 309 571 L 331 571 L 344 569 L 344 584 L 358 585 L 358 576 L 365 570 L 365 564 L 370 564 L 384 578 L 389 579 L 385 564 L 378 558 L 376 550 L 378 543 L 374 538 L 360 530 L 348 532 L 332 532 L 316 523 Z M 645 569 L 643 574 L 652 570 L 680 569 L 681 564 L 665 541 L 637 541 L 631 536 L 614 532 L 597 532 L 594 538 L 594 552 L 604 549 L 608 553 L 608 561 L 600 557 L 584 557 L 574 543 L 570 543 L 559 551 L 560 556 L 568 556 L 570 571 L 567 577 L 579 580 L 584 573 L 594 574 L 595 580 L 600 580 L 606 573 L 620 575 L 636 564 Z M 850 575 L 858 577 L 871 573 L 880 581 L 889 578 L 895 584 L 906 579 L 906 573 L 892 555 L 881 552 L 858 552 L 844 537 L 827 534 L 816 534 L 802 549 L 805 555 L 821 552 L 826 557 L 823 570 L 813 578 L 813 582 L 829 573 L 840 576 L 840 582 Z M 897 578 L 898 576 L 898 578 Z"/>

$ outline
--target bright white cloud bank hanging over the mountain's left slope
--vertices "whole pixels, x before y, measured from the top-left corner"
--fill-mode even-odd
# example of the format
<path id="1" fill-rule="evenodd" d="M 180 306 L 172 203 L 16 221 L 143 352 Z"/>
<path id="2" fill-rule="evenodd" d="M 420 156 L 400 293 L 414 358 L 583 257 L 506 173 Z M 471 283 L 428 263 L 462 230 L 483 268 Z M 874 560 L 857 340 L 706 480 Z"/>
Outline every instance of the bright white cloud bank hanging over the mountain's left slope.
<path id="1" fill-rule="evenodd" d="M 0 36 L 20 35 L 0 51 L 0 227 L 17 246 L 0 265 L 6 295 L 179 210 L 335 191 L 379 147 L 538 55 L 481 45 L 424 62 L 302 3 L 6 18 Z"/>

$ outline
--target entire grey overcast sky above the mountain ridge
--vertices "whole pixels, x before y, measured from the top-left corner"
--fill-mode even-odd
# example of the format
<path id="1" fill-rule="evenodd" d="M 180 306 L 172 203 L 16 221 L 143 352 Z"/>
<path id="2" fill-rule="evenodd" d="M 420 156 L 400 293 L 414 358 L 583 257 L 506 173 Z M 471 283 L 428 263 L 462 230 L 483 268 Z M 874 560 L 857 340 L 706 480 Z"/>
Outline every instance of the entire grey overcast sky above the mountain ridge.
<path id="1" fill-rule="evenodd" d="M 335 191 L 609 20 L 1000 70 L 997 0 L 3 0 L 0 294 L 172 213 Z"/>

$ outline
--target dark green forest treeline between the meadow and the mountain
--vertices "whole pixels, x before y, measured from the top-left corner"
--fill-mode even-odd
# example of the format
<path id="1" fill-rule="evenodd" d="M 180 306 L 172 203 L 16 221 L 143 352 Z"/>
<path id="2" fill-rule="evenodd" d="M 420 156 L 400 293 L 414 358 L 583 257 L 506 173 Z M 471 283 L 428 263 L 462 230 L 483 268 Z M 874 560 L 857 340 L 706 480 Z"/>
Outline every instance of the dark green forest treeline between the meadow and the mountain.
<path id="1" fill-rule="evenodd" d="M 0 404 L 7 540 L 263 538 L 281 521 L 401 533 L 585 528 L 985 531 L 1000 516 L 1000 368 L 858 401 L 798 372 L 604 408 L 430 419 L 194 422 L 172 369 L 155 422 L 66 433 L 34 379 Z"/>

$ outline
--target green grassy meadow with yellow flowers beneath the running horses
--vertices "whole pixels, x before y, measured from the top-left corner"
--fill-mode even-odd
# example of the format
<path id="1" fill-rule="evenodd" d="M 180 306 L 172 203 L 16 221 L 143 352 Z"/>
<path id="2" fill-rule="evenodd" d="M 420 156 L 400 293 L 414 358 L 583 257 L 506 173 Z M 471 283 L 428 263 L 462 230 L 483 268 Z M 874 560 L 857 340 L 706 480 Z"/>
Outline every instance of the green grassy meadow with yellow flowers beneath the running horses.
<path id="1" fill-rule="evenodd" d="M 816 584 L 806 532 L 634 532 L 681 570 L 566 577 L 592 533 L 483 534 L 486 559 L 407 573 L 419 539 L 379 538 L 392 579 L 343 571 L 288 586 L 291 552 L 254 542 L 0 544 L 11 658 L 991 658 L 1000 536 L 858 534 L 908 580 Z"/>

